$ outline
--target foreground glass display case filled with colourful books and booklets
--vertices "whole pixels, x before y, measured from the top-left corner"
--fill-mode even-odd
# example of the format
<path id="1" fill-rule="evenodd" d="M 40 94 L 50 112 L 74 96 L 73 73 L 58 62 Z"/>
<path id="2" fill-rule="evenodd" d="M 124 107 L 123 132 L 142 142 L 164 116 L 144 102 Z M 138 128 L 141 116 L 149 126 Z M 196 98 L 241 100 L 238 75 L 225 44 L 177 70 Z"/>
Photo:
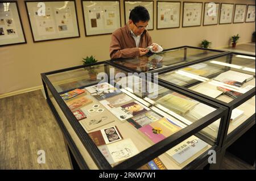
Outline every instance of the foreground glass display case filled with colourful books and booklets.
<path id="1" fill-rule="evenodd" d="M 228 109 L 218 103 L 108 62 L 42 81 L 73 168 L 202 169 L 220 152 Z"/>

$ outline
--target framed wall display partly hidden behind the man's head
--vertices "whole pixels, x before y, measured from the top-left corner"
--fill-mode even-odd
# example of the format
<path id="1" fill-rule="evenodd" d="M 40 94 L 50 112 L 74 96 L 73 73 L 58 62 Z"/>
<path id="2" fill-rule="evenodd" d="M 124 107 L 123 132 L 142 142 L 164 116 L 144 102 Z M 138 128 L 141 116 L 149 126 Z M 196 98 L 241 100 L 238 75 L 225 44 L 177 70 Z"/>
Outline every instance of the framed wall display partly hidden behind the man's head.
<path id="1" fill-rule="evenodd" d="M 154 30 L 154 1 L 124 1 L 125 6 L 125 23 L 129 21 L 129 15 L 131 10 L 136 6 L 146 7 L 150 14 L 150 20 L 148 21 L 147 30 Z"/>

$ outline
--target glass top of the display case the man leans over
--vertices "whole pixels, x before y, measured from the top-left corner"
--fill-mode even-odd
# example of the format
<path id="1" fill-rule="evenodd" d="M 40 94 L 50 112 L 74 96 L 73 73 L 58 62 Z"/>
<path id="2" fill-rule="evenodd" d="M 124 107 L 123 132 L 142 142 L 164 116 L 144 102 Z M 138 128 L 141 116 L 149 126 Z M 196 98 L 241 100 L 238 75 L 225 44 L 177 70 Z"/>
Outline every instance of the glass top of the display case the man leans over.
<path id="1" fill-rule="evenodd" d="M 148 53 L 142 57 L 110 60 L 110 64 L 127 68 L 130 71 L 156 72 L 166 68 L 174 68 L 189 62 L 200 61 L 208 57 L 218 57 L 227 52 L 199 47 L 176 47 L 160 53 Z"/>

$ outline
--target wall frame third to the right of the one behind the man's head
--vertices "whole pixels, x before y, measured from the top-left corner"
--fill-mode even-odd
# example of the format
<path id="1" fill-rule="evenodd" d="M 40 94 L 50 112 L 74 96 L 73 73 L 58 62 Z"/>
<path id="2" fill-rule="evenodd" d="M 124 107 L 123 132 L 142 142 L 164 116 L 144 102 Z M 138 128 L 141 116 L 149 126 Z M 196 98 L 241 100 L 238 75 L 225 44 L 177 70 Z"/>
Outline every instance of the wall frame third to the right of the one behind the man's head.
<path id="1" fill-rule="evenodd" d="M 220 3 L 204 3 L 203 26 L 218 24 Z"/>

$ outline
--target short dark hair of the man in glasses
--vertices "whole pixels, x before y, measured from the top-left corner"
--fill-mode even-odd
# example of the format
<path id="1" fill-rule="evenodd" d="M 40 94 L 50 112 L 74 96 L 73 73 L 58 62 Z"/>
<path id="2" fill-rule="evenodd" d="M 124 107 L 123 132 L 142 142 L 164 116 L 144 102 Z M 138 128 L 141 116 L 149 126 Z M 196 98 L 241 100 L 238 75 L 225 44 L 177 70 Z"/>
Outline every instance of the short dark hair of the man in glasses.
<path id="1" fill-rule="evenodd" d="M 131 19 L 133 23 L 138 23 L 139 21 L 148 22 L 150 15 L 145 7 L 136 6 L 131 10 L 129 19 Z"/>

